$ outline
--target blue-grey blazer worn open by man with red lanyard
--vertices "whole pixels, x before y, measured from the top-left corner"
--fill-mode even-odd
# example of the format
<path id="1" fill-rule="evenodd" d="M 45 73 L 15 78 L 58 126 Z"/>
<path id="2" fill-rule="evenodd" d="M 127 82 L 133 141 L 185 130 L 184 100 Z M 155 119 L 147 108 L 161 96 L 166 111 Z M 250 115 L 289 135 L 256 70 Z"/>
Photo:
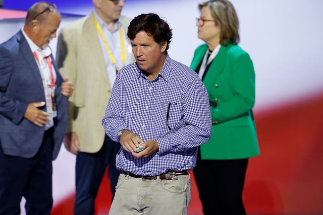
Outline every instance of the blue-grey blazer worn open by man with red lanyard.
<path id="1" fill-rule="evenodd" d="M 53 159 L 56 159 L 67 122 L 67 98 L 61 94 L 63 78 L 57 71 L 57 111 L 54 125 Z M 24 114 L 28 104 L 45 100 L 45 93 L 35 58 L 26 38 L 19 31 L 0 45 L 0 142 L 6 155 L 33 157 L 39 150 L 44 127 L 38 127 Z M 46 111 L 45 106 L 41 107 Z"/>

